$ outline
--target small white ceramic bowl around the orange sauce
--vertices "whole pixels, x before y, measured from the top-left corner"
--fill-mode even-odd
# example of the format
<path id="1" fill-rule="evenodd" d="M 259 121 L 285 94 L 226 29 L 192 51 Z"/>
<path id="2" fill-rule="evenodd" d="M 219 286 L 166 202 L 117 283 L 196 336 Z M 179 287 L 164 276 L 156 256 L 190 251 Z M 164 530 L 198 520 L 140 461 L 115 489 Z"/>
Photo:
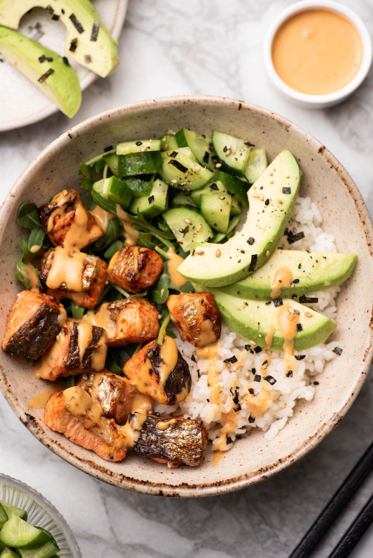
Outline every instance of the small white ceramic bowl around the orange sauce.
<path id="1" fill-rule="evenodd" d="M 326 93 L 324 95 L 309 95 L 301 93 L 296 89 L 292 89 L 289 85 L 286 85 L 286 83 L 282 81 L 280 76 L 277 74 L 272 60 L 272 42 L 278 28 L 280 28 L 282 23 L 288 20 L 291 16 L 294 16 L 296 13 L 304 12 L 310 8 L 329 9 L 344 16 L 356 28 L 360 35 L 362 44 L 361 65 L 355 77 L 350 81 L 350 83 L 342 87 L 342 89 L 338 89 L 337 91 Z M 372 64 L 372 51 L 372 40 L 365 23 L 363 23 L 361 18 L 358 17 L 352 9 L 339 4 L 339 2 L 334 2 L 333 0 L 319 0 L 319 2 L 315 2 L 315 0 L 303 0 L 302 2 L 296 2 L 295 4 L 287 7 L 280 14 L 278 14 L 272 22 L 266 33 L 263 45 L 265 65 L 273 84 L 276 85 L 277 89 L 280 90 L 280 92 L 286 97 L 290 97 L 296 104 L 307 108 L 332 107 L 333 105 L 341 103 L 344 99 L 351 95 L 358 88 L 358 86 L 361 85 L 362 81 L 366 78 L 366 75 L 369 72 Z"/>

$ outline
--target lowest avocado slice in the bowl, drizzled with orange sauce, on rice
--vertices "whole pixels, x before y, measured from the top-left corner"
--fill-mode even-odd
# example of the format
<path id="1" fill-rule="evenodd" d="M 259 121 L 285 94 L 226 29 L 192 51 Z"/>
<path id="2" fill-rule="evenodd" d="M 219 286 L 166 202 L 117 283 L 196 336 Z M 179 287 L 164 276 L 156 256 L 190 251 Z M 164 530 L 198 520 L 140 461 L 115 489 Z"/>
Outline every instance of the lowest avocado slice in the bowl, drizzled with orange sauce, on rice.
<path id="1" fill-rule="evenodd" d="M 193 285 L 193 287 L 196 291 L 206 290 L 205 287 L 197 285 Z M 266 304 L 264 300 L 240 299 L 237 296 L 228 295 L 218 288 L 208 288 L 207 291 L 214 295 L 221 319 L 230 330 L 243 339 L 254 341 L 259 347 L 267 347 L 266 328 L 273 325 L 275 333 L 273 333 L 271 349 L 282 350 L 285 339 L 278 329 L 278 306 L 275 306 L 275 302 Z M 289 304 L 293 310 L 299 312 L 299 323 L 302 329 L 298 331 L 294 338 L 295 350 L 309 349 L 322 343 L 325 339 L 328 339 L 337 327 L 335 321 L 299 304 L 295 300 L 286 299 L 282 302 L 283 304 Z"/>

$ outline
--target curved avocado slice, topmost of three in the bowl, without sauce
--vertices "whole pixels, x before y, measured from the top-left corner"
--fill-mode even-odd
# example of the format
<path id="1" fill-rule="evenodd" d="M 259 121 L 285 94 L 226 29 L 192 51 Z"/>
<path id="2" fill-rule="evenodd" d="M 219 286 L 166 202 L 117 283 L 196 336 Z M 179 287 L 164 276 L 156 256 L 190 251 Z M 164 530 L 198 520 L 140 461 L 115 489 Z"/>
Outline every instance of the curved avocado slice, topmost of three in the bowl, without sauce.
<path id="1" fill-rule="evenodd" d="M 289 223 L 300 182 L 290 151 L 281 151 L 248 191 L 249 211 L 242 230 L 224 244 L 192 252 L 178 267 L 186 279 L 210 287 L 230 285 L 261 267 Z M 216 256 L 216 254 L 219 256 Z"/>

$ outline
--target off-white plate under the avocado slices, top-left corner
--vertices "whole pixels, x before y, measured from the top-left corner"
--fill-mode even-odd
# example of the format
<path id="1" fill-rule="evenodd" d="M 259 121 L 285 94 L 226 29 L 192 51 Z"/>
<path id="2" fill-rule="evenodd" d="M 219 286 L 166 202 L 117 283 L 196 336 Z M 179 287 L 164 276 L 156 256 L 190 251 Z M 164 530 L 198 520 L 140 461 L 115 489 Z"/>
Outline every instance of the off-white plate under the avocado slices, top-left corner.
<path id="1" fill-rule="evenodd" d="M 115 39 L 119 39 L 128 0 L 93 0 L 92 3 L 108 31 Z M 63 23 L 51 20 L 45 9 L 34 8 L 22 17 L 18 31 L 35 39 L 36 23 L 41 24 L 40 31 L 43 32 L 43 36 L 37 40 L 64 56 L 66 30 Z M 78 74 L 82 91 L 98 78 L 71 59 L 69 62 Z M 0 63 L 0 132 L 33 124 L 55 112 L 58 112 L 58 108 L 25 76 L 7 61 Z"/>

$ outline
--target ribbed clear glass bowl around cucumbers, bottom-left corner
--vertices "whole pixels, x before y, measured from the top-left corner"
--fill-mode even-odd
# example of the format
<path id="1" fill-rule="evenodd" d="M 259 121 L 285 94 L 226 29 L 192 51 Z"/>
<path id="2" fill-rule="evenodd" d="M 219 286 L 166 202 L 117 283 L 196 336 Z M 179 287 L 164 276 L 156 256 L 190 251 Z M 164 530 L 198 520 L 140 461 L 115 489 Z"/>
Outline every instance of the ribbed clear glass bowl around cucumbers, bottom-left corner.
<path id="1" fill-rule="evenodd" d="M 31 525 L 50 531 L 60 547 L 60 558 L 82 558 L 77 541 L 62 515 L 34 488 L 7 475 L 0 475 L 0 500 L 25 509 Z"/>

